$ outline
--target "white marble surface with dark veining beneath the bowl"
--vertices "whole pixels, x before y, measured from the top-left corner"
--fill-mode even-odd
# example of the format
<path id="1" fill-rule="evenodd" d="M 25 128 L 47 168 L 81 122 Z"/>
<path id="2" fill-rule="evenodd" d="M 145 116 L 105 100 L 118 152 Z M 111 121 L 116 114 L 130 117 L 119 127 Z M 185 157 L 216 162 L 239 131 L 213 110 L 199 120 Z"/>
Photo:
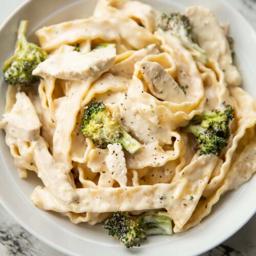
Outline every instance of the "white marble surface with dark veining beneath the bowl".
<path id="1" fill-rule="evenodd" d="M 214 1 L 214 0 L 212 0 Z M 256 0 L 225 0 L 237 8 L 256 29 Z M 0 0 L 0 24 L 24 0 Z M 193 1 L 191 1 L 192 3 Z M 63 256 L 40 242 L 9 216 L 0 205 L 0 256 Z M 256 255 L 256 216 L 230 239 L 201 256 L 254 256 Z"/>

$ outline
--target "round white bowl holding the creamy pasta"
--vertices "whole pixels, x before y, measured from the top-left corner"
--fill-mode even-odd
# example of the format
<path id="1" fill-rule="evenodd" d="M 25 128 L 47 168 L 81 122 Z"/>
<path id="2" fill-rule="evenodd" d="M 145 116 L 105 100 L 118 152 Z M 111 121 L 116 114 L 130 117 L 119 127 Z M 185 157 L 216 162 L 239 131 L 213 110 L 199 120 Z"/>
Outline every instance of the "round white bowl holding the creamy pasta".
<path id="1" fill-rule="evenodd" d="M 222 24 L 230 22 L 231 35 L 236 41 L 239 69 L 243 75 L 243 87 L 256 96 L 256 34 L 245 18 L 225 1 L 221 0 L 144 0 L 160 11 L 181 11 L 191 4 L 210 8 Z M 0 29 L 0 63 L 14 50 L 15 31 L 20 19 L 29 20 L 29 33 L 44 25 L 87 17 L 92 14 L 94 0 L 31 0 L 20 6 Z M 36 40 L 32 35 L 30 39 Z M 0 113 L 4 112 L 7 84 L 1 74 Z M 213 207 L 211 214 L 201 224 L 174 236 L 150 237 L 140 248 L 130 250 L 118 245 L 102 229 L 102 225 L 75 225 L 68 218 L 34 206 L 29 197 L 40 184 L 35 174 L 28 179 L 17 175 L 5 133 L 0 132 L 0 201 L 9 213 L 30 233 L 50 246 L 72 255 L 195 255 L 217 246 L 238 231 L 256 210 L 256 177 L 236 191 L 224 195 Z"/>

